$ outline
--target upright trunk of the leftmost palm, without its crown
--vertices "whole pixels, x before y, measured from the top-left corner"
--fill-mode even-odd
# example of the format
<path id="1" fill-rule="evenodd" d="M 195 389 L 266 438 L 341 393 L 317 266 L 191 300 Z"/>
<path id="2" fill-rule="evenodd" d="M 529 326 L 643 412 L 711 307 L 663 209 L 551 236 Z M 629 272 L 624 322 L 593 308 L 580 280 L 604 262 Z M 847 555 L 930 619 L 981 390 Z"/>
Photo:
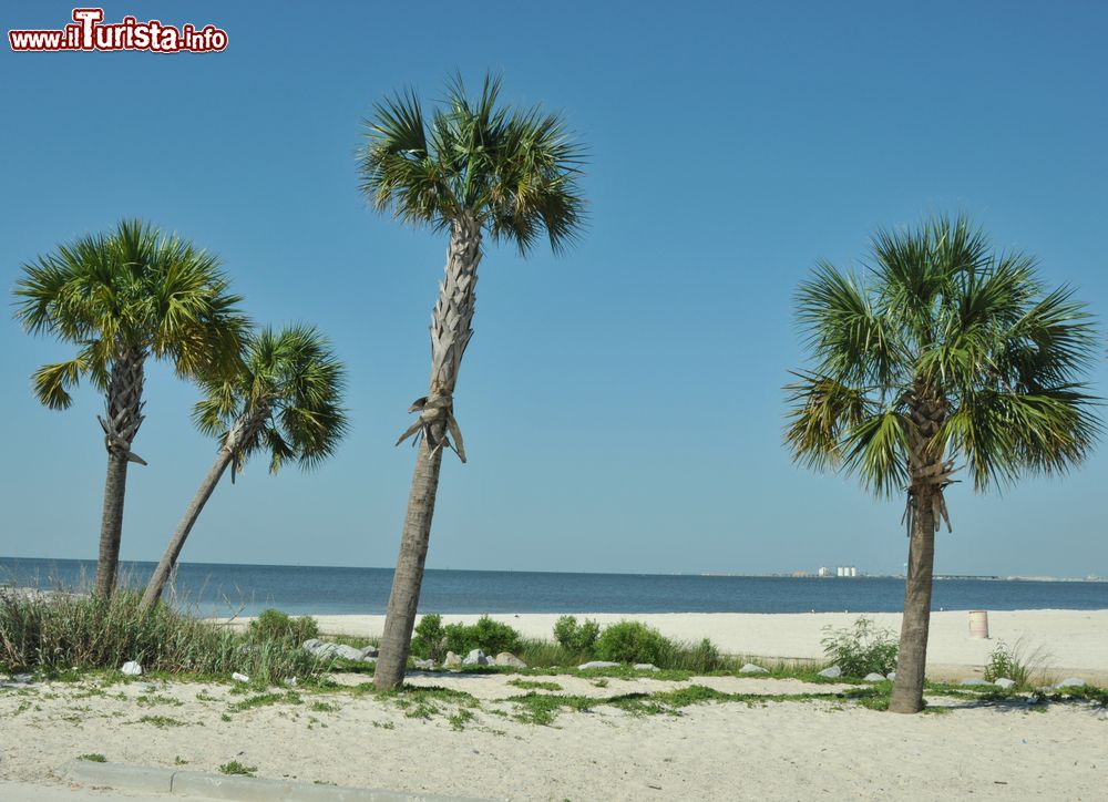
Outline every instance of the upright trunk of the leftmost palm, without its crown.
<path id="1" fill-rule="evenodd" d="M 146 352 L 126 348 L 112 362 L 107 382 L 106 415 L 100 418 L 107 449 L 107 476 L 104 481 L 104 508 L 100 522 L 100 555 L 96 561 L 96 594 L 103 597 L 115 589 L 120 565 L 120 539 L 123 534 L 123 500 L 127 486 L 127 463 L 146 463 L 131 451 L 142 425 Z"/>

